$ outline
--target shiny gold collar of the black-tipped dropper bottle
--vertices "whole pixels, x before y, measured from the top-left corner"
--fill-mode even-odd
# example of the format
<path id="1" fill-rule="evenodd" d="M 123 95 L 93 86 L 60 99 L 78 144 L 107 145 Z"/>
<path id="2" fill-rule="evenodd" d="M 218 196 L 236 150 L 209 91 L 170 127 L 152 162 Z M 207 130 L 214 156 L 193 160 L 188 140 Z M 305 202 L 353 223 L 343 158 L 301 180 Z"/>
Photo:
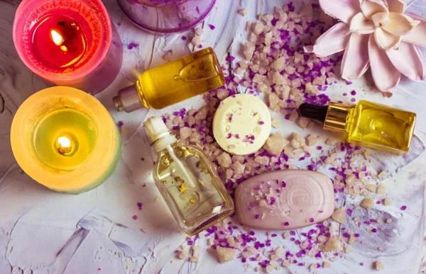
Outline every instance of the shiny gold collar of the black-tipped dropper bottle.
<path id="1" fill-rule="evenodd" d="M 324 130 L 344 132 L 349 109 L 351 109 L 349 106 L 342 103 L 330 102 L 324 121 Z"/>

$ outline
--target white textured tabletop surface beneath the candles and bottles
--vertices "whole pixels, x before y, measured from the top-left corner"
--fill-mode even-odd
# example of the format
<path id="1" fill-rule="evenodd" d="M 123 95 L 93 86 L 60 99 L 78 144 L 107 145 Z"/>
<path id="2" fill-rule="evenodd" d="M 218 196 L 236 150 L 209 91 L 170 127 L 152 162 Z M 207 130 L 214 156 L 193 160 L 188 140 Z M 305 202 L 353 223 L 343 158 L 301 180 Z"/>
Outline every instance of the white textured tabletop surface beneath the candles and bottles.
<path id="1" fill-rule="evenodd" d="M 117 122 L 124 122 L 121 161 L 106 183 L 88 193 L 53 193 L 26 176 L 11 153 L 9 130 L 14 113 L 28 96 L 46 86 L 23 65 L 14 50 L 11 29 L 18 2 L 0 1 L 0 274 L 243 273 L 244 266 L 239 259 L 217 263 L 217 258 L 206 251 L 204 239 L 197 241 L 197 245 L 202 246 L 200 263 L 173 259 L 174 251 L 186 242 L 186 236 L 178 230 L 163 201 L 155 202 L 155 197 L 160 194 L 153 185 L 153 156 L 142 123 L 151 115 L 170 113 L 180 108 L 200 108 L 204 104 L 202 98 L 162 111 L 138 110 L 131 114 L 116 113 L 111 102 L 116 91 L 136 81 L 138 74 L 165 63 L 162 57 L 166 52 L 171 50 L 173 57 L 181 57 L 192 50 L 192 45 L 187 45 L 180 38 L 182 35 L 144 33 L 125 18 L 116 1 L 104 1 L 124 44 L 124 62 L 119 76 L 97 98 Z M 222 61 L 228 51 L 239 56 L 242 42 L 246 39 L 246 21 L 255 21 L 256 14 L 271 12 L 273 6 L 283 6 L 283 2 L 217 0 L 204 24 L 202 44 L 214 47 Z M 425 4 L 426 0 L 410 1 L 410 10 L 422 13 Z M 248 8 L 248 16 L 238 15 L 237 11 L 242 8 Z M 422 16 L 426 16 L 426 12 Z M 207 23 L 216 28 L 210 30 Z M 138 46 L 130 50 L 128 46 L 131 43 Z M 392 98 L 384 98 L 377 91 L 366 88 L 365 81 L 355 81 L 352 86 L 346 86 L 342 81 L 333 85 L 327 93 L 334 100 L 344 100 L 339 97 L 342 92 L 356 89 L 357 100 L 366 98 L 416 112 L 415 134 L 424 142 L 426 83 L 403 81 Z M 284 134 L 301 131 L 289 121 L 282 125 Z M 424 146 L 419 139 L 415 141 L 416 151 L 408 156 L 375 156 L 376 164 L 391 173 L 385 184 L 395 207 L 387 212 L 398 222 L 391 229 L 370 236 L 364 244 L 354 245 L 354 251 L 346 258 L 333 263 L 329 270 L 316 270 L 318 273 L 373 273 L 371 263 L 378 259 L 386 266 L 384 273 L 421 271 L 425 262 L 422 250 L 425 248 L 422 246 L 425 246 L 426 156 L 421 154 Z M 146 160 L 141 161 L 142 157 Z M 137 202 L 143 202 L 143 210 L 138 210 Z M 403 204 L 408 209 L 402 214 L 398 205 Z M 137 215 L 138 219 L 133 220 L 133 215 Z M 256 231 L 256 234 L 265 233 Z M 261 239 L 262 236 L 258 237 Z M 288 240 L 278 238 L 273 239 L 275 246 L 290 246 Z M 378 251 L 377 246 L 383 246 L 383 251 Z M 364 267 L 359 266 L 360 261 L 364 262 Z M 309 263 L 309 259 L 306 262 Z M 423 269 L 426 270 L 426 266 Z M 310 272 L 306 266 L 291 266 L 279 272 L 285 271 Z"/>

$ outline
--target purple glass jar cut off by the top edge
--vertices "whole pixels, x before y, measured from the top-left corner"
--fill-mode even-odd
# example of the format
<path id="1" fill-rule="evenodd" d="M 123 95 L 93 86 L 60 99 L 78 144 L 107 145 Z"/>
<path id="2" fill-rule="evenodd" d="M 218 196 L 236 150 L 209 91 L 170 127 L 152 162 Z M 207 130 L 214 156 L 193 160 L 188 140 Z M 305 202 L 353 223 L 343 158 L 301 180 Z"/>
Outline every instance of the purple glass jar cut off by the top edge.
<path id="1" fill-rule="evenodd" d="M 155 33 L 180 33 L 204 20 L 216 0 L 117 0 L 133 23 Z"/>

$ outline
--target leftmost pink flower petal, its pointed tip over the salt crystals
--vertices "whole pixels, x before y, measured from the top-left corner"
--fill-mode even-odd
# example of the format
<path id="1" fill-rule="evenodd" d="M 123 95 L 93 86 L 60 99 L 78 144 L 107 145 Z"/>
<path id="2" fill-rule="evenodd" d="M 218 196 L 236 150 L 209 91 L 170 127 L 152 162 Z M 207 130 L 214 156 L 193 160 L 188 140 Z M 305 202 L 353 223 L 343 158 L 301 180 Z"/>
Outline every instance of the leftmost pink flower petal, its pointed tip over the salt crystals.
<path id="1" fill-rule="evenodd" d="M 337 23 L 329 28 L 327 32 L 322 34 L 320 38 L 315 41 L 315 45 L 305 47 L 305 52 L 314 52 L 315 55 L 326 57 L 337 52 L 341 52 L 346 47 L 349 35 L 349 25 L 345 23 Z"/>

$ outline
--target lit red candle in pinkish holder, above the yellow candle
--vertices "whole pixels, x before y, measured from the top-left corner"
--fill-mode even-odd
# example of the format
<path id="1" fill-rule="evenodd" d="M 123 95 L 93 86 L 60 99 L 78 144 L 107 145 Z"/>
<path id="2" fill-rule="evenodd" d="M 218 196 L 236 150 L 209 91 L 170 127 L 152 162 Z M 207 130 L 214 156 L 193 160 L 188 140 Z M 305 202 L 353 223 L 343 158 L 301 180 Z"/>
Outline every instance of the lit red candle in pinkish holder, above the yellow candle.
<path id="1" fill-rule="evenodd" d="M 35 74 L 89 93 L 107 88 L 123 59 L 121 40 L 100 0 L 23 0 L 13 42 Z"/>

